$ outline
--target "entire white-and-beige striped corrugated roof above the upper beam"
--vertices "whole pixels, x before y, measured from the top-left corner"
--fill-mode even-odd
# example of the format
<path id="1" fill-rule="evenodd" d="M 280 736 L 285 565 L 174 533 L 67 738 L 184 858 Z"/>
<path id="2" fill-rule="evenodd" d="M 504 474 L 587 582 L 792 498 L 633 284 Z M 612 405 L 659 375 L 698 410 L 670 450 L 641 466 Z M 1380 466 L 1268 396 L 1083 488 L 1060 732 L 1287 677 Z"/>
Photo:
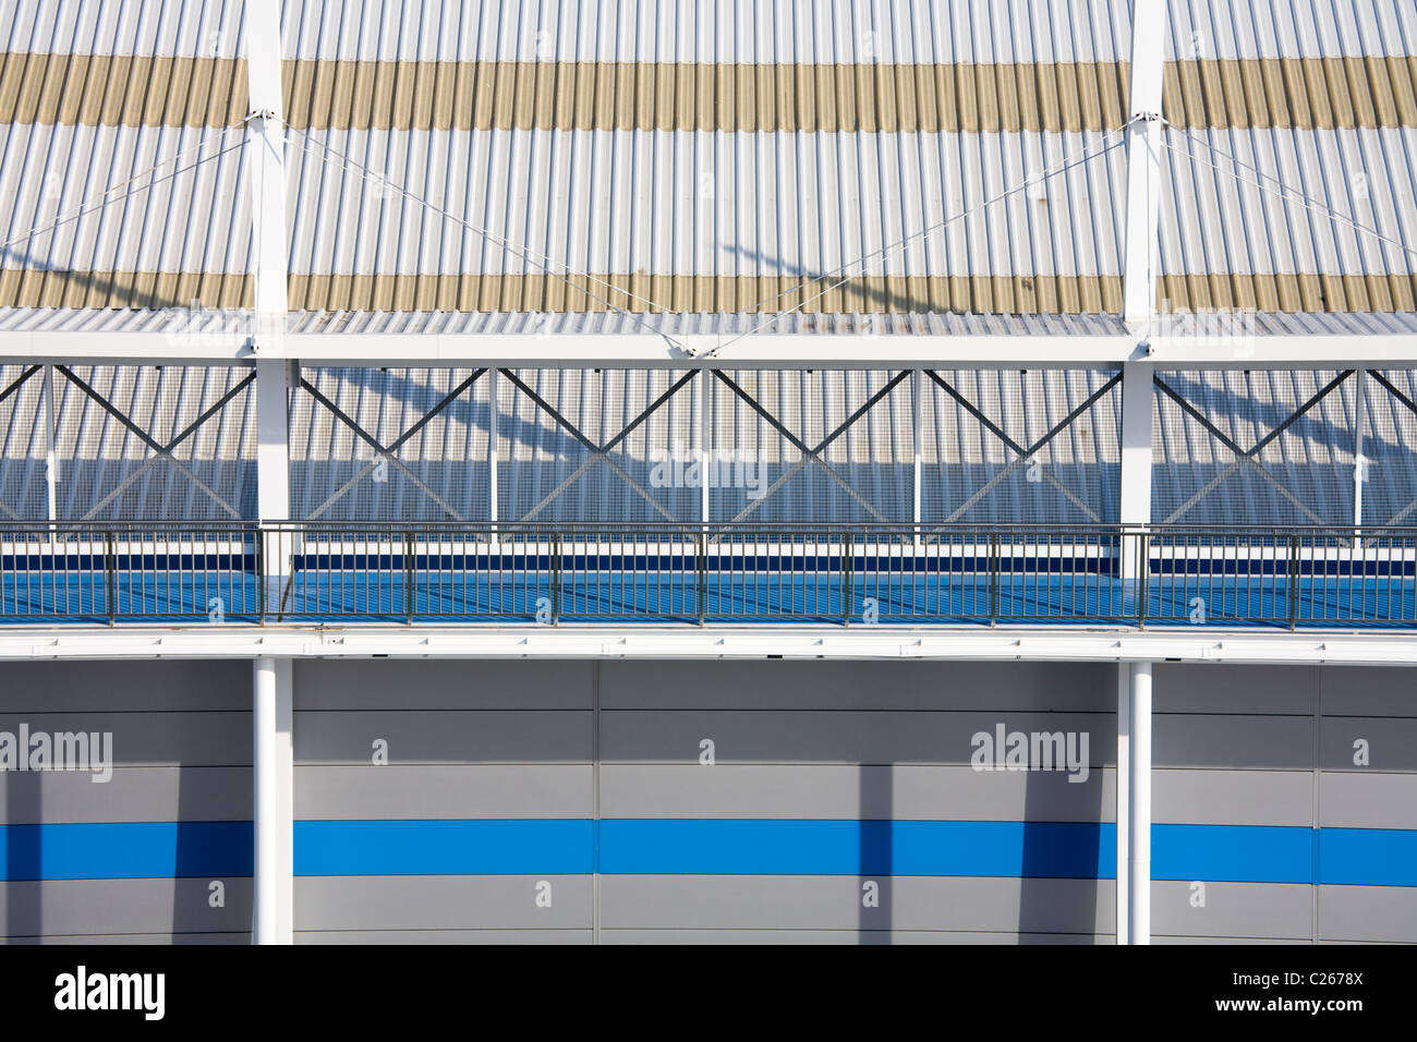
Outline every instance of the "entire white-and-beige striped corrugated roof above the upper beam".
<path id="1" fill-rule="evenodd" d="M 296 309 L 1119 309 L 1101 145 L 1128 0 L 289 0 L 282 23 Z M 0 0 L 0 305 L 247 299 L 239 149 L 50 230 L 217 150 L 239 26 L 235 0 Z M 1172 3 L 1168 58 L 1168 118 L 1197 129 L 1168 130 L 1161 295 L 1411 309 L 1410 4 Z"/>

